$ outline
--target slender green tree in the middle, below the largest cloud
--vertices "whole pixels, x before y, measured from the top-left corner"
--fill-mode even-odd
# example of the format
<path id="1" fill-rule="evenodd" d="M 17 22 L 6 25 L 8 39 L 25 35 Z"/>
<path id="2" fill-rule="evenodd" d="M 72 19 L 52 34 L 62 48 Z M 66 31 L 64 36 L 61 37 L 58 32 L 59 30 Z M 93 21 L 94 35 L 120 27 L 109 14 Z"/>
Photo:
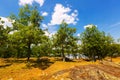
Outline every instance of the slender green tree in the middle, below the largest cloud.
<path id="1" fill-rule="evenodd" d="M 75 28 L 68 27 L 68 24 L 64 21 L 60 24 L 60 28 L 55 34 L 54 45 L 60 49 L 62 54 L 63 61 L 65 61 L 65 49 L 68 46 L 72 46 L 72 41 L 74 41 L 74 33 L 76 32 Z"/>

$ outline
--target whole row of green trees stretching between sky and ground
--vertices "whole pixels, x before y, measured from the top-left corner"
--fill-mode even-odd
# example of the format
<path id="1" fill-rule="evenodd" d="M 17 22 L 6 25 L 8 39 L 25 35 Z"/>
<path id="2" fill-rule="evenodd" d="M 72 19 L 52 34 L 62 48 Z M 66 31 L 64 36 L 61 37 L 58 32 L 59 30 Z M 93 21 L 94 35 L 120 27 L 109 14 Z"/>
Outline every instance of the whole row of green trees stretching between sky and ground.
<path id="1" fill-rule="evenodd" d="M 25 5 L 18 15 L 10 15 L 12 26 L 4 27 L 0 19 L 0 57 L 9 58 L 42 56 L 61 56 L 65 61 L 66 54 L 83 54 L 90 60 L 102 60 L 107 56 L 120 56 L 120 44 L 110 34 L 98 30 L 95 25 L 87 27 L 80 36 L 75 36 L 76 29 L 63 21 L 57 33 L 46 36 L 41 29 L 44 19 L 37 7 Z M 78 44 L 80 41 L 81 44 Z M 118 40 L 119 41 L 119 40 Z"/>

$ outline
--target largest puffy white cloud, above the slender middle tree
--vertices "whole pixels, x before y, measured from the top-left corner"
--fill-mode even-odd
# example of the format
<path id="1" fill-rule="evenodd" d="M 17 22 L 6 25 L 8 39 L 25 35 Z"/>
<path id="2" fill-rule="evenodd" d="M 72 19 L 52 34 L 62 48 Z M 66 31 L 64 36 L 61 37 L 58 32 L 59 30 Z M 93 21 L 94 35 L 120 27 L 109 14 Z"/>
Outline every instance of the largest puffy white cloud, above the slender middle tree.
<path id="1" fill-rule="evenodd" d="M 76 24 L 78 21 L 78 11 L 71 12 L 70 7 L 64 7 L 62 4 L 56 4 L 52 14 L 52 20 L 49 25 L 59 25 L 64 20 L 68 24 Z"/>

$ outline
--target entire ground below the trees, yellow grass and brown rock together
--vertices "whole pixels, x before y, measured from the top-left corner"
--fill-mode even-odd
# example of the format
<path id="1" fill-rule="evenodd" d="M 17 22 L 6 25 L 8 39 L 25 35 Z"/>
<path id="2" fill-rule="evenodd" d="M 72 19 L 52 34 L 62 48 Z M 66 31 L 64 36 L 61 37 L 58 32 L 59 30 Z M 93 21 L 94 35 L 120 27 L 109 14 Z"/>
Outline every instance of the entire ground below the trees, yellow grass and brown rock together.
<path id="1" fill-rule="evenodd" d="M 120 57 L 113 62 L 62 62 L 43 58 L 36 62 L 26 59 L 0 58 L 0 80 L 120 80 Z"/>

